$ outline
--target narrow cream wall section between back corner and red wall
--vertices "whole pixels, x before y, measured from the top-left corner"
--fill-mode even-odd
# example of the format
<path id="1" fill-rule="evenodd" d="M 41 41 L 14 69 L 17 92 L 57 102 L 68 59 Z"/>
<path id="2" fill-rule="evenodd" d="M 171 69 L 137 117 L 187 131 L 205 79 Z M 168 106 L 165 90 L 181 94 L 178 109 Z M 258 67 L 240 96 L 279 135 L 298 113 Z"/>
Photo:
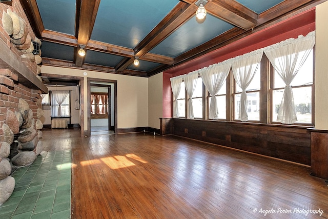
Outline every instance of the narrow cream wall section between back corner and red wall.
<path id="1" fill-rule="evenodd" d="M 159 118 L 163 115 L 163 73 L 148 78 L 148 126 L 160 128 Z"/>

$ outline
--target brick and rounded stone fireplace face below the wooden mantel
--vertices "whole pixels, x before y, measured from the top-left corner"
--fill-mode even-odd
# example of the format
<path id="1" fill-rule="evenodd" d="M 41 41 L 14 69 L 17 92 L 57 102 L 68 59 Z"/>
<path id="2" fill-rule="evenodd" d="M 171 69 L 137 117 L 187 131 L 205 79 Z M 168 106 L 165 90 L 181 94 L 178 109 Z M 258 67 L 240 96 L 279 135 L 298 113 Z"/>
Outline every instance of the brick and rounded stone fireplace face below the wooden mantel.
<path id="1" fill-rule="evenodd" d="M 0 69 L 0 205 L 15 187 L 12 168 L 32 164 L 42 151 L 41 92 L 18 83 L 17 78 L 9 69 Z"/>

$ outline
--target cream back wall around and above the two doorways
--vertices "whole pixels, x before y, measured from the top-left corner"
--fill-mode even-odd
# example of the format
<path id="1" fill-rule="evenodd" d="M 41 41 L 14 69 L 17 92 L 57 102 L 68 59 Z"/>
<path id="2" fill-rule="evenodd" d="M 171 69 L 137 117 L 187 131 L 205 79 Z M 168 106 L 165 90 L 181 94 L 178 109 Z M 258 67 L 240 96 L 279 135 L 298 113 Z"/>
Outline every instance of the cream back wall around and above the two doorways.
<path id="1" fill-rule="evenodd" d="M 42 66 L 41 72 L 84 77 L 84 130 L 88 129 L 87 77 L 117 81 L 117 128 L 148 126 L 148 78 L 52 66 Z"/>

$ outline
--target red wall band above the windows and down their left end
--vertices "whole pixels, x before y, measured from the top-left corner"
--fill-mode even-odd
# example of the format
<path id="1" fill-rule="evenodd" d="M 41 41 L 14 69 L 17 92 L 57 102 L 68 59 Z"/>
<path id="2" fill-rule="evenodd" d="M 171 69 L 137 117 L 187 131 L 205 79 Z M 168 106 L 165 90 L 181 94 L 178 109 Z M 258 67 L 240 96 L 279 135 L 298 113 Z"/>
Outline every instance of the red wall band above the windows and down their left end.
<path id="1" fill-rule="evenodd" d="M 213 52 L 207 53 L 206 55 L 195 58 L 190 62 L 184 63 L 163 72 L 163 75 L 170 75 L 165 77 L 163 76 L 163 117 L 173 116 L 173 97 L 170 77 L 178 76 L 181 74 L 188 74 L 189 72 L 201 69 L 203 67 L 208 67 L 229 58 L 279 43 L 288 38 L 297 38 L 299 35 L 306 35 L 314 30 L 315 8 L 312 8 L 293 17 L 285 19 L 278 24 L 272 25 L 268 28 L 239 39 L 234 43 L 219 48 Z M 169 96 L 171 96 L 170 105 L 167 102 L 167 98 Z M 170 109 L 167 109 L 167 107 L 170 107 Z M 170 115 L 167 114 L 169 111 L 171 112 Z M 166 112 L 166 114 L 164 112 Z"/>

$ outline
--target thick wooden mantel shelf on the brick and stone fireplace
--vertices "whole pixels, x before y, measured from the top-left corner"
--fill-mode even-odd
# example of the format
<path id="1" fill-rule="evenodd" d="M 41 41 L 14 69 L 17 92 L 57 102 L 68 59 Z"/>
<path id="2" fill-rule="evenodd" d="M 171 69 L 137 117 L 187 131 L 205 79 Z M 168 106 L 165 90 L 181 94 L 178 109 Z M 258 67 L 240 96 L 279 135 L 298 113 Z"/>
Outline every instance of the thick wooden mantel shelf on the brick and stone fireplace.
<path id="1" fill-rule="evenodd" d="M 0 51 L 0 68 L 10 69 L 18 75 L 18 82 L 30 89 L 40 90 L 43 93 L 48 92 L 48 88 L 42 81 L 17 58 L 14 52 L 3 41 L 0 41 Z"/>

